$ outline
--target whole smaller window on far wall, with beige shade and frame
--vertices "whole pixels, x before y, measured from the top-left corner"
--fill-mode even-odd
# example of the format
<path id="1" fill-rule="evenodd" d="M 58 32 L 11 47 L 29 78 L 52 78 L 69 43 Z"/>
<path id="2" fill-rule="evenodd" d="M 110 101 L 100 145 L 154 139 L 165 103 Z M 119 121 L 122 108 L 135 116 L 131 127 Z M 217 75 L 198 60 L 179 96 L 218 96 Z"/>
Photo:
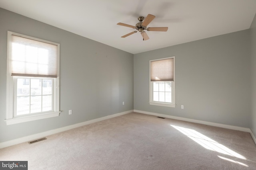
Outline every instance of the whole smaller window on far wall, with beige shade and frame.
<path id="1" fill-rule="evenodd" d="M 150 61 L 149 103 L 175 107 L 175 57 Z"/>

